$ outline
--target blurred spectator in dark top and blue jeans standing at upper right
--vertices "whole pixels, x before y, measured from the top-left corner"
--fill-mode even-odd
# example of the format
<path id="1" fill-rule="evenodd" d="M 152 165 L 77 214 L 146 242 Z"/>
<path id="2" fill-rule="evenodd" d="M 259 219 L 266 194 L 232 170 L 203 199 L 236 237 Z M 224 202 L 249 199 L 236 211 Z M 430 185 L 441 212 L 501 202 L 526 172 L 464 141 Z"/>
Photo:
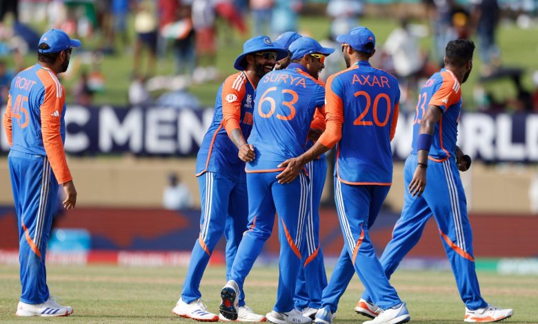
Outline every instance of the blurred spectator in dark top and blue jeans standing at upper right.
<path id="1" fill-rule="evenodd" d="M 472 12 L 477 22 L 477 34 L 480 45 L 480 58 L 482 60 L 482 75 L 488 76 L 499 66 L 500 51 L 495 43 L 495 32 L 501 15 L 501 8 L 497 0 L 474 0 L 475 8 Z"/>

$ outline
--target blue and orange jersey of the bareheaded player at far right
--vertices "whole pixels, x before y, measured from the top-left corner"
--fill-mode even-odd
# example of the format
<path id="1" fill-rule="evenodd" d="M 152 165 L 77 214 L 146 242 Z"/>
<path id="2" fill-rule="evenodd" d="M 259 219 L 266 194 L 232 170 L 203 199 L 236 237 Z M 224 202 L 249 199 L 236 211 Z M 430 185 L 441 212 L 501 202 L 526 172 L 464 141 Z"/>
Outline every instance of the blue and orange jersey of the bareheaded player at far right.
<path id="1" fill-rule="evenodd" d="M 424 83 L 419 94 L 415 119 L 413 120 L 412 152 L 417 153 L 417 136 L 420 121 L 429 105 L 443 110 L 439 123 L 435 124 L 429 159 L 441 162 L 455 156 L 458 136 L 458 121 L 461 113 L 461 87 L 450 70 L 442 69 Z"/>

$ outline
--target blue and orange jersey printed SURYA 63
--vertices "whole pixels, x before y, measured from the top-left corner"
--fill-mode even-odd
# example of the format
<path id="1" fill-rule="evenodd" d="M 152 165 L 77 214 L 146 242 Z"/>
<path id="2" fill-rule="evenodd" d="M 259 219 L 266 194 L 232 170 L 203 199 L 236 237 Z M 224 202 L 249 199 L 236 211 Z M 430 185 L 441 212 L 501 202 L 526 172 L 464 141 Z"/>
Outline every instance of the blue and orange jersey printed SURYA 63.
<path id="1" fill-rule="evenodd" d="M 275 172 L 287 159 L 303 154 L 310 123 L 317 107 L 323 107 L 325 88 L 302 65 L 266 74 L 256 90 L 254 127 L 248 143 L 256 159 L 246 172 Z"/>

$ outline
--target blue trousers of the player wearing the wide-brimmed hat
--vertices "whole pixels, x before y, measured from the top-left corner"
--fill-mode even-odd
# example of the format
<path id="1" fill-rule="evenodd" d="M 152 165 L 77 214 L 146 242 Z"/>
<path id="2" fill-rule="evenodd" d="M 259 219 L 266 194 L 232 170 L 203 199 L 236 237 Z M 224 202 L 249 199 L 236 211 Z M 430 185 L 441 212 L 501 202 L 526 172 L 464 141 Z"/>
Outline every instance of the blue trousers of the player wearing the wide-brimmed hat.
<path id="1" fill-rule="evenodd" d="M 226 280 L 237 254 L 237 247 L 248 223 L 248 194 L 246 183 L 237 183 L 216 172 L 198 177 L 201 200 L 200 235 L 192 248 L 181 299 L 190 303 L 201 298 L 200 281 L 210 256 L 222 234 L 226 238 Z M 245 305 L 243 292 L 239 306 Z"/>

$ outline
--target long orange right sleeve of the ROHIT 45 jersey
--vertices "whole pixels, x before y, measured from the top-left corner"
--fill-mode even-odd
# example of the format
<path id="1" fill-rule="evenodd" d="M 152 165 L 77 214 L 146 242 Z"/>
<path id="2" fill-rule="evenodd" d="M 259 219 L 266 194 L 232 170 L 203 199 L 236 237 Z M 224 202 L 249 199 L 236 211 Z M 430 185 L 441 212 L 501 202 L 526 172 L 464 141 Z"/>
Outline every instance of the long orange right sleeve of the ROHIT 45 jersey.
<path id="1" fill-rule="evenodd" d="M 72 176 L 66 161 L 66 152 L 63 150 L 60 133 L 63 106 L 66 103 L 65 89 L 50 70 L 37 70 L 37 77 L 45 87 L 45 98 L 39 108 L 43 146 L 58 183 L 66 183 L 72 180 Z"/>

